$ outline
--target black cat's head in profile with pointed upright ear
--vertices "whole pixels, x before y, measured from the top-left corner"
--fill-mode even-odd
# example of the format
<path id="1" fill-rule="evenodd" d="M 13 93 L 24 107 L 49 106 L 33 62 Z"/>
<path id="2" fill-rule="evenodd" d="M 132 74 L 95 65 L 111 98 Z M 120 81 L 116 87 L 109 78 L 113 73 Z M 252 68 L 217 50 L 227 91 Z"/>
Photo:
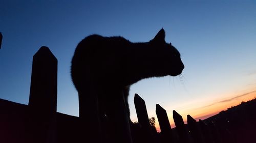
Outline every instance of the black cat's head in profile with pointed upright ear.
<path id="1" fill-rule="evenodd" d="M 177 76 L 182 73 L 184 65 L 180 58 L 179 51 L 172 43 L 165 42 L 165 31 L 163 28 L 157 33 L 155 38 L 150 41 L 151 49 L 154 52 L 152 62 L 157 65 L 160 76 Z"/>

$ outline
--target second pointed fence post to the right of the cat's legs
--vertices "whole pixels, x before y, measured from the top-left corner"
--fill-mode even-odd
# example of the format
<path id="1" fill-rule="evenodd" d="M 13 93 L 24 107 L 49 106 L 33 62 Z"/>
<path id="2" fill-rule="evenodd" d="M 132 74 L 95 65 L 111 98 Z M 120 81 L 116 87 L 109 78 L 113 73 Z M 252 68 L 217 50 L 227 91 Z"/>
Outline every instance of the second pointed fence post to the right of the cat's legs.
<path id="1" fill-rule="evenodd" d="M 166 110 L 162 108 L 159 104 L 156 104 L 156 114 L 161 129 L 163 142 L 172 142 L 172 128 L 170 127 Z"/>

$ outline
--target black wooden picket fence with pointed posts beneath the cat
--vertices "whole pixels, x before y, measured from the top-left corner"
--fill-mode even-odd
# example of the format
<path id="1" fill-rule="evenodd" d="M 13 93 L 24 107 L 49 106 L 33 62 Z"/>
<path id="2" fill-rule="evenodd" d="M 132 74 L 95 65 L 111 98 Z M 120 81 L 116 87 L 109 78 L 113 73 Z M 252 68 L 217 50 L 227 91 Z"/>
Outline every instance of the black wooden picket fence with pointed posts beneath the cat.
<path id="1" fill-rule="evenodd" d="M 20 142 L 70 142 L 70 140 L 66 138 L 69 138 L 71 134 L 79 138 L 79 141 L 78 139 L 74 139 L 76 140 L 75 142 L 223 142 L 223 138 L 221 138 L 220 132 L 213 122 L 207 125 L 204 121 L 200 120 L 196 122 L 195 119 L 187 115 L 188 124 L 185 125 L 182 116 L 175 110 L 173 111 L 173 118 L 176 128 L 172 129 L 166 110 L 159 104 L 156 105 L 156 115 L 161 133 L 153 132 L 148 120 L 145 102 L 138 94 L 135 94 L 134 103 L 139 127 L 130 129 L 127 113 L 125 113 L 126 109 L 123 94 L 121 92 L 119 94 L 120 98 L 115 100 L 117 108 L 120 108 L 118 112 L 116 112 L 116 119 L 114 119 L 116 125 L 111 126 L 112 129 L 98 131 L 104 133 L 104 135 L 99 136 L 97 131 L 92 132 L 83 129 L 90 126 L 90 123 L 84 123 L 81 118 L 68 120 L 68 118 L 63 117 L 61 120 L 60 118 L 58 119 L 56 116 L 57 59 L 48 47 L 43 46 L 33 56 L 28 105 L 29 121 L 27 123 L 28 129 L 26 129 L 29 136 L 26 138 L 29 139 Z M 90 118 L 90 115 L 84 116 Z M 63 122 L 63 120 L 65 120 L 65 122 Z M 73 120 L 76 122 L 73 122 Z M 58 123 L 60 122 L 65 123 L 65 127 L 62 127 L 62 125 L 59 126 Z M 75 124 L 78 123 L 82 126 L 75 126 Z M 72 127 L 77 128 L 74 129 Z M 61 132 L 61 134 L 59 132 Z M 231 139 L 227 140 L 234 142 L 231 141 Z"/>

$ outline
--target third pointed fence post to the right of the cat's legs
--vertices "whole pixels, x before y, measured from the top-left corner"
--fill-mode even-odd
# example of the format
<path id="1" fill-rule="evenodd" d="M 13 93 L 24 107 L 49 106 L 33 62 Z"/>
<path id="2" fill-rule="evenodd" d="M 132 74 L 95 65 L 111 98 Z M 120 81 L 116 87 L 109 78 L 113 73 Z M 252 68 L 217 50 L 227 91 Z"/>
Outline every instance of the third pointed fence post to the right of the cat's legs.
<path id="1" fill-rule="evenodd" d="M 173 110 L 173 118 L 174 118 L 174 123 L 176 126 L 177 133 L 179 135 L 179 140 L 182 143 L 187 143 L 189 142 L 187 130 L 185 128 L 185 124 L 183 122 L 182 116 L 179 115 L 175 110 Z"/>

